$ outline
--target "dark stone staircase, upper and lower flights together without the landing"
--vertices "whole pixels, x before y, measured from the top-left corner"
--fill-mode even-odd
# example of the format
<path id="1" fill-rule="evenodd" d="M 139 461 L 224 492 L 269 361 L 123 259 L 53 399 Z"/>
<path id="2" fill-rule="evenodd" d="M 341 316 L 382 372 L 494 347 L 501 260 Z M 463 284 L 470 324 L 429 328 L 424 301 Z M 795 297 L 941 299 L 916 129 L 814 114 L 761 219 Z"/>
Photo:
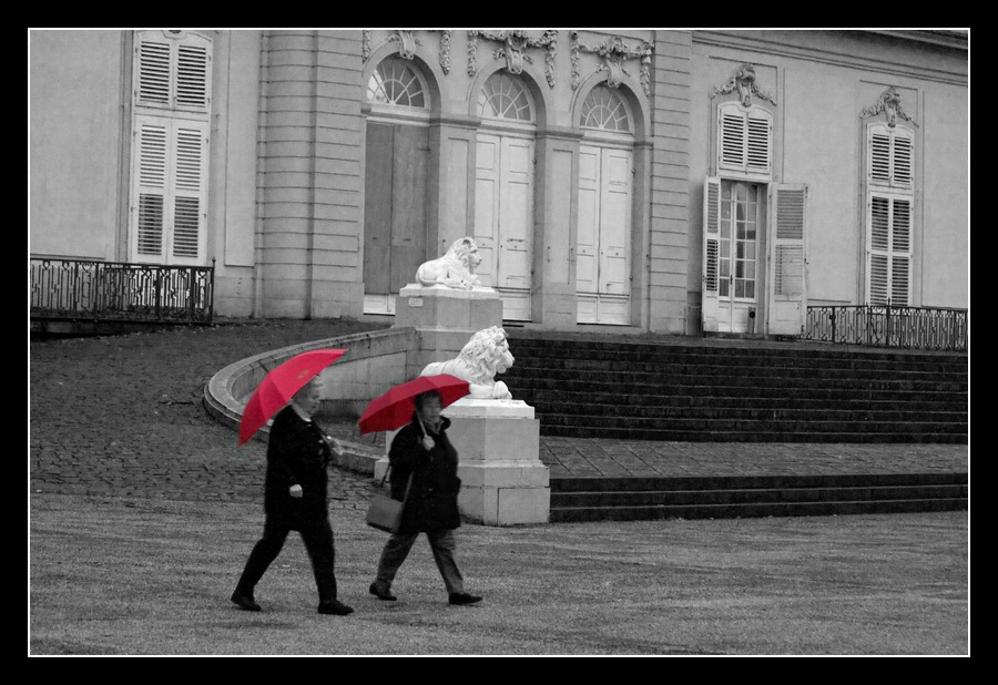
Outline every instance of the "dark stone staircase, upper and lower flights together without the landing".
<path id="1" fill-rule="evenodd" d="M 508 330 L 501 379 L 541 434 L 967 443 L 966 355 Z M 551 478 L 551 522 L 955 511 L 968 473 Z"/>

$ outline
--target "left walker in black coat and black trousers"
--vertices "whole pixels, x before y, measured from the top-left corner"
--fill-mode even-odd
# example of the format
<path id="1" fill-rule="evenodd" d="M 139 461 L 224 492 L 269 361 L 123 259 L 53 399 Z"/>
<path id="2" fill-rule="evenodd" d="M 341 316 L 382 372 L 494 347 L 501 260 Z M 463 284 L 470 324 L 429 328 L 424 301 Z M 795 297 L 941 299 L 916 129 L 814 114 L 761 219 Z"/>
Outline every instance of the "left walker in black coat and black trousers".
<path id="1" fill-rule="evenodd" d="M 329 442 L 337 451 L 339 446 L 336 440 L 326 438 L 312 420 L 320 400 L 320 387 L 313 380 L 274 417 L 264 484 L 266 520 L 263 538 L 249 553 L 232 594 L 233 603 L 240 609 L 261 610 L 253 591 L 277 559 L 288 533 L 295 530 L 302 535 L 312 560 L 319 595 L 318 612 L 343 616 L 354 611 L 336 597 L 336 551 L 326 499 L 326 468 L 332 457 Z"/>

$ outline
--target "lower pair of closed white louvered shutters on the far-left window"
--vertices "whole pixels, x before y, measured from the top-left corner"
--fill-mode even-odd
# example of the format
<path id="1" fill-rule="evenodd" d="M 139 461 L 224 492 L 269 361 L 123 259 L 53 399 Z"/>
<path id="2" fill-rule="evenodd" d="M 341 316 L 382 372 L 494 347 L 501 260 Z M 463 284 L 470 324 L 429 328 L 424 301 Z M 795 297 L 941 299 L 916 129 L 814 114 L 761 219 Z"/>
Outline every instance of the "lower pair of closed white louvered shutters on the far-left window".
<path id="1" fill-rule="evenodd" d="M 136 117 L 131 258 L 201 264 L 205 253 L 207 123 Z"/>

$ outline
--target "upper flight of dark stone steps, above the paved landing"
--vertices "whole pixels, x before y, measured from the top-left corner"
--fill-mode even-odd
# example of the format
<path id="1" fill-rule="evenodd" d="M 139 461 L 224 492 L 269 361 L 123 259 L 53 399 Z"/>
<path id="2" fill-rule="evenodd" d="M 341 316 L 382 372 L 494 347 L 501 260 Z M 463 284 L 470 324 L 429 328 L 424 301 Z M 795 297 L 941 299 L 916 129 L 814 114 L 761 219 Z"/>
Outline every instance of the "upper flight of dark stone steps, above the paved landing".
<path id="1" fill-rule="evenodd" d="M 501 379 L 541 433 L 684 442 L 968 440 L 967 356 L 527 336 Z"/>

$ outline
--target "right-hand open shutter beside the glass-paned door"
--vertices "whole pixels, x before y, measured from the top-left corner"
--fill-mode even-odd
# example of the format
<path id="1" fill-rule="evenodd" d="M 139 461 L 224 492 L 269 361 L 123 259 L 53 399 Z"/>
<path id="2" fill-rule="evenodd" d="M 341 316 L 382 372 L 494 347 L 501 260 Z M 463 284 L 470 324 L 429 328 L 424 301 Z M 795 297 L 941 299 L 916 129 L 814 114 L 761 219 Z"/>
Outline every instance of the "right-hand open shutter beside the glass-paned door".
<path id="1" fill-rule="evenodd" d="M 770 307 L 767 333 L 801 335 L 807 309 L 805 233 L 807 186 L 775 184 L 771 187 L 773 228 L 770 232 Z"/>

